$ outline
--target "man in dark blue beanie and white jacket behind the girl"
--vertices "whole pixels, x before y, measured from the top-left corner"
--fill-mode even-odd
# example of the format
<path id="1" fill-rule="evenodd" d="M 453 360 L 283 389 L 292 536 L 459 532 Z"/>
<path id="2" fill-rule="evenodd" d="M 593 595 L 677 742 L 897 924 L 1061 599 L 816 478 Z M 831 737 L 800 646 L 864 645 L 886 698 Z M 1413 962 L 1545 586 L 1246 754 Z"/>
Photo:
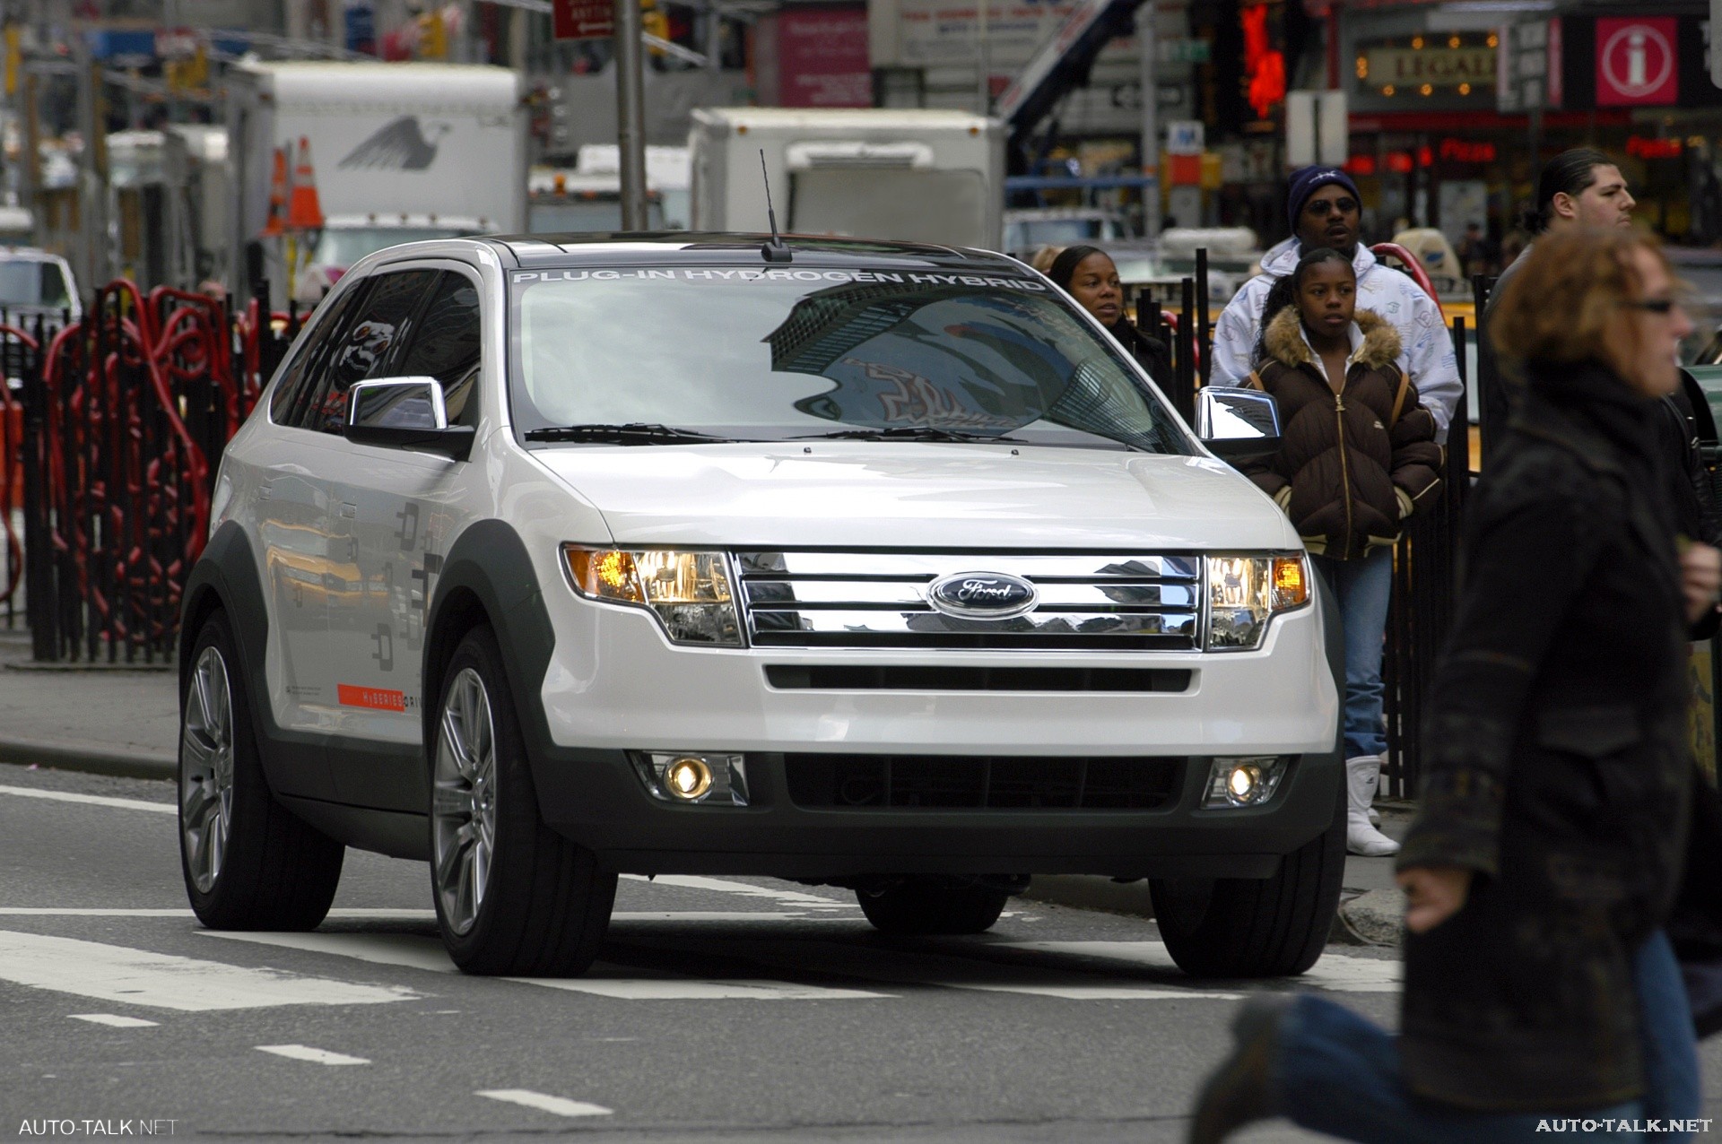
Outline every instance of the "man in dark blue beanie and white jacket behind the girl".
<path id="1" fill-rule="evenodd" d="M 1338 167 L 1304 167 L 1292 174 L 1286 196 L 1292 237 L 1262 256 L 1262 274 L 1250 279 L 1214 329 L 1214 384 L 1243 385 L 1255 368 L 1262 303 L 1274 280 L 1297 268 L 1304 251 L 1329 246 L 1352 260 L 1357 272 L 1357 308 L 1371 310 L 1400 334 L 1400 368 L 1410 377 L 1424 406 L 1434 415 L 1440 434 L 1459 403 L 1459 360 L 1453 339 L 1441 322 L 1441 310 L 1409 275 L 1381 265 L 1357 241 L 1362 203 L 1357 184 Z"/>

